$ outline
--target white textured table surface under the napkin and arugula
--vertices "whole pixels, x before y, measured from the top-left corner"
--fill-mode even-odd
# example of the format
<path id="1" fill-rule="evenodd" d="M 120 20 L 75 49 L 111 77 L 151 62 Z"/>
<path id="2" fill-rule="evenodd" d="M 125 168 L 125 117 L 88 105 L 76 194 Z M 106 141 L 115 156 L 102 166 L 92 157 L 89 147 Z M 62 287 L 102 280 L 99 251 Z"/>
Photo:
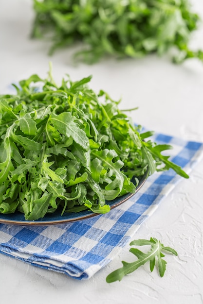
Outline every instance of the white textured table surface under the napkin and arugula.
<path id="1" fill-rule="evenodd" d="M 203 16 L 203 1 L 193 1 Z M 7 84 L 38 73 L 45 76 L 48 62 L 60 80 L 93 75 L 91 86 L 122 96 L 121 108 L 139 106 L 134 121 L 148 129 L 203 142 L 203 64 L 196 60 L 182 66 L 167 58 L 107 60 L 94 66 L 71 64 L 73 50 L 47 56 L 49 46 L 30 40 L 33 20 L 31 0 L 0 0 L 0 93 Z M 203 48 L 203 26 L 191 45 Z M 88 281 L 29 266 L 0 255 L 0 303 L 97 303 L 97 304 L 203 304 L 203 161 L 161 203 L 134 238 L 154 236 L 179 255 L 166 256 L 166 274 L 149 272 L 148 265 L 107 284 L 106 276 L 133 259 L 126 246 L 111 264 Z M 133 238 L 133 239 L 134 239 Z"/>

